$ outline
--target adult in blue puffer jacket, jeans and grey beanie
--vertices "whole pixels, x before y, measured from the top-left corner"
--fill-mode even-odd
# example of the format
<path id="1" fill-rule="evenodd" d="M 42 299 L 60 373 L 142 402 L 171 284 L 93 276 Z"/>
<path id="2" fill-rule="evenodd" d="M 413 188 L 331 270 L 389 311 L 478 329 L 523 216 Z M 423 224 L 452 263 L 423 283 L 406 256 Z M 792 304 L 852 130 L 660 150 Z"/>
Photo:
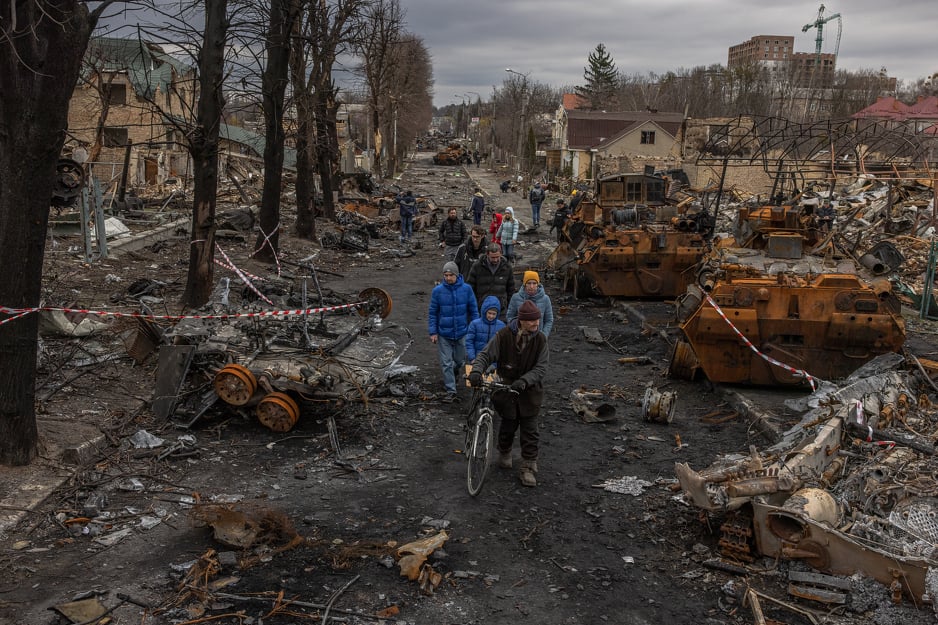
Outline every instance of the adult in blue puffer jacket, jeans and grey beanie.
<path id="1" fill-rule="evenodd" d="M 469 324 L 479 318 L 479 308 L 472 287 L 463 282 L 459 267 L 450 261 L 443 265 L 443 281 L 430 293 L 427 330 L 430 342 L 437 346 L 443 371 L 443 401 L 456 400 L 456 381 L 462 377 L 466 362 L 466 334 Z"/>

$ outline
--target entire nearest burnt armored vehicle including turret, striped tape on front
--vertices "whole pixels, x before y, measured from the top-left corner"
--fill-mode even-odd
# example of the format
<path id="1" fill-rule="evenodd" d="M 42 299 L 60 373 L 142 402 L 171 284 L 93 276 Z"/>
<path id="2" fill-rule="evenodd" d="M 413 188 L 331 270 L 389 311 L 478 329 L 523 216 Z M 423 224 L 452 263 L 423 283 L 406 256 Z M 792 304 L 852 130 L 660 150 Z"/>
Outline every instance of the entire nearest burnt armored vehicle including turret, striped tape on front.
<path id="1" fill-rule="evenodd" d="M 734 230 L 678 299 L 684 339 L 671 352 L 672 376 L 813 386 L 902 348 L 892 285 L 838 253 L 812 211 L 741 208 Z M 812 248 L 823 255 L 806 252 Z"/>

